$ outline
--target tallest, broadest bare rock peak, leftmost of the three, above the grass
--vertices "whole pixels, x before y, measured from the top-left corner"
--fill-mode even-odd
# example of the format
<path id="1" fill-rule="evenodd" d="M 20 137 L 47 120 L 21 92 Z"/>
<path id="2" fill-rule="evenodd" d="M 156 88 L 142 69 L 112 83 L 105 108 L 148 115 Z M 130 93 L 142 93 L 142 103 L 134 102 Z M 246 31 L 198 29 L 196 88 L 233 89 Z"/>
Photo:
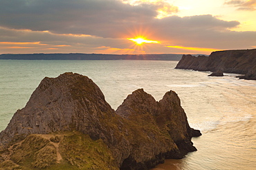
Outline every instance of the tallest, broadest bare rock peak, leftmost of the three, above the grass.
<path id="1" fill-rule="evenodd" d="M 42 80 L 26 107 L 18 110 L 1 132 L 0 140 L 6 143 L 19 134 L 48 134 L 71 129 L 93 136 L 91 124 L 98 123 L 104 116 L 116 114 L 104 100 L 100 88 L 87 76 L 67 72 Z"/>

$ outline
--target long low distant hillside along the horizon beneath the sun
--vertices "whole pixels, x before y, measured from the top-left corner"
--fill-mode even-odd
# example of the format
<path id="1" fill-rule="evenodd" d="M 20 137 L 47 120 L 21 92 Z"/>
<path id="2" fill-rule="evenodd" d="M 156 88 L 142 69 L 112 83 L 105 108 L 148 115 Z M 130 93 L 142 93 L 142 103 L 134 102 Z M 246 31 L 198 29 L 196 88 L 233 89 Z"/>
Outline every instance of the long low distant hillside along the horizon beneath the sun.
<path id="1" fill-rule="evenodd" d="M 182 54 L 1 54 L 4 60 L 156 60 L 179 61 Z"/>

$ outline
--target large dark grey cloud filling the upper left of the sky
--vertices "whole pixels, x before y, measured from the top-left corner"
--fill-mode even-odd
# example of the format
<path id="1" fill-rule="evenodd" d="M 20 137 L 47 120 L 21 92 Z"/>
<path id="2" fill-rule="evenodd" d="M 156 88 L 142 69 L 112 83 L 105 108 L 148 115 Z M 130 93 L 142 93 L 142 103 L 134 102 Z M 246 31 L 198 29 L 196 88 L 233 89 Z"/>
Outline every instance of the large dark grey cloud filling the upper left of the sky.
<path id="1" fill-rule="evenodd" d="M 1 0 L 0 15 L 1 26 L 7 28 L 105 37 L 113 36 L 112 28 L 149 21 L 157 12 L 156 6 L 130 6 L 117 0 Z"/>

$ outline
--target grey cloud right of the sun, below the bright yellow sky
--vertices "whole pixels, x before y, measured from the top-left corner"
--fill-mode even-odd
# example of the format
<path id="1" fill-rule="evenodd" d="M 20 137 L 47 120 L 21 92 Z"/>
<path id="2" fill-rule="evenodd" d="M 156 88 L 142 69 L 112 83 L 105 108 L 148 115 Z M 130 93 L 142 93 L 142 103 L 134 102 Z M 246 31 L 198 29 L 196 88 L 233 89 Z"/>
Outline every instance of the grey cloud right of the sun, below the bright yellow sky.
<path id="1" fill-rule="evenodd" d="M 234 44 L 230 40 L 240 39 L 241 37 L 237 36 L 238 32 L 236 34 L 229 29 L 235 28 L 239 24 L 238 21 L 223 21 L 212 15 L 199 15 L 192 17 L 167 17 L 155 21 L 151 27 L 154 28 L 156 37 L 161 37 L 162 40 L 167 42 L 188 47 L 196 45 L 201 47 L 221 48 L 225 46 L 230 48 Z M 245 33 L 241 32 L 241 34 Z M 247 39 L 246 45 L 253 44 L 255 38 L 256 33 L 250 32 L 250 37 Z M 224 44 L 222 43 L 223 41 L 230 42 Z M 236 45 L 236 47 L 239 46 Z"/>

